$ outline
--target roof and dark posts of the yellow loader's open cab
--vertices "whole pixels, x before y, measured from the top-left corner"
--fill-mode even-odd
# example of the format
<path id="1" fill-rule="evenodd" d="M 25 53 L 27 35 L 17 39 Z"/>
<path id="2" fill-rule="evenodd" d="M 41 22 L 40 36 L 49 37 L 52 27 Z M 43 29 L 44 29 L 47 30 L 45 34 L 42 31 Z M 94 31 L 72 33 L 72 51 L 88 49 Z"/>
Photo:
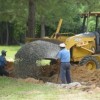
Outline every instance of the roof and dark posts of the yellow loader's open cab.
<path id="1" fill-rule="evenodd" d="M 100 12 L 90 12 L 90 13 L 83 13 L 81 14 L 83 17 L 83 25 L 82 25 L 82 31 L 83 33 L 86 32 L 86 20 L 88 20 L 89 17 L 95 17 L 95 43 L 96 43 L 96 49 L 95 53 L 100 53 L 100 26 L 99 26 L 99 19 L 100 19 Z"/>

